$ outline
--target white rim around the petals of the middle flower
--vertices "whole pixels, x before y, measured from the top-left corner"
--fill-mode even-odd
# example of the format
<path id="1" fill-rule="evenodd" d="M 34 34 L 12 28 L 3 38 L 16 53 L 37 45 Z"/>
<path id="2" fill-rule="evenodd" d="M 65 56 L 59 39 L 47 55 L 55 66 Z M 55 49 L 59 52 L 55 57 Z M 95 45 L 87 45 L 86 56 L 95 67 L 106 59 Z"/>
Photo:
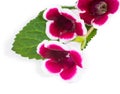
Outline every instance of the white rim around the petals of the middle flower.
<path id="1" fill-rule="evenodd" d="M 44 19 L 48 20 L 48 19 L 46 18 L 46 14 L 47 14 L 47 12 L 48 12 L 50 9 L 52 9 L 52 8 L 57 8 L 60 14 L 62 14 L 62 13 L 67 13 L 68 15 L 72 16 L 74 19 L 76 19 L 76 22 L 81 23 L 81 25 L 82 25 L 82 30 L 83 30 L 83 34 L 86 34 L 86 33 L 87 33 L 87 29 L 86 29 L 86 27 L 85 27 L 84 21 L 83 21 L 82 19 L 80 19 L 80 17 L 79 17 L 79 11 L 78 11 L 77 9 L 74 9 L 74 10 L 63 9 L 63 8 L 61 8 L 60 6 L 50 7 L 50 8 L 48 8 L 47 10 L 45 10 L 45 12 L 43 13 L 43 18 L 44 18 Z M 49 21 L 50 21 L 50 22 L 49 22 Z M 56 40 L 56 39 L 58 39 L 58 38 L 52 36 L 52 35 L 49 33 L 49 26 L 50 26 L 50 24 L 51 24 L 52 22 L 53 22 L 52 20 L 48 20 L 48 22 L 46 23 L 46 34 L 48 33 L 47 36 L 48 36 L 50 39 Z M 74 39 L 74 38 L 73 38 L 73 39 Z M 65 39 L 63 39 L 63 40 L 65 40 Z M 61 40 L 61 41 L 62 41 L 62 40 Z"/>

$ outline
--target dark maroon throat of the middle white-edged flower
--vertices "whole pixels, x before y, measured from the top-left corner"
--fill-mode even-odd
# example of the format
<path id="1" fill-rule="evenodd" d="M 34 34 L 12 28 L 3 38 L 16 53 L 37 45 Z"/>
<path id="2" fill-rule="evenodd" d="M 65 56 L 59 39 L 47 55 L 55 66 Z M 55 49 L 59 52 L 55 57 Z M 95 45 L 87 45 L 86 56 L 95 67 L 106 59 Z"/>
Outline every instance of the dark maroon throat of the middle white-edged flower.
<path id="1" fill-rule="evenodd" d="M 65 31 L 73 31 L 75 27 L 74 23 L 71 20 L 62 15 L 60 15 L 56 20 L 56 26 L 58 27 L 58 29 Z"/>

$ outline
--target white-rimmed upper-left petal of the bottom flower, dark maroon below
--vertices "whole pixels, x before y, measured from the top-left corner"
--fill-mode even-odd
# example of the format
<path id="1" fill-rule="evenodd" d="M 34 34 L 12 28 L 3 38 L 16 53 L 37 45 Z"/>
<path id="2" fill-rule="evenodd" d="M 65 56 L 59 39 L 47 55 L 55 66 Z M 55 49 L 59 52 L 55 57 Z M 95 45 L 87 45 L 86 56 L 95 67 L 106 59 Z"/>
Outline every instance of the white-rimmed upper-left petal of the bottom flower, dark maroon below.
<path id="1" fill-rule="evenodd" d="M 37 47 L 37 53 L 43 58 L 60 59 L 68 54 L 68 48 L 57 41 L 43 41 Z"/>

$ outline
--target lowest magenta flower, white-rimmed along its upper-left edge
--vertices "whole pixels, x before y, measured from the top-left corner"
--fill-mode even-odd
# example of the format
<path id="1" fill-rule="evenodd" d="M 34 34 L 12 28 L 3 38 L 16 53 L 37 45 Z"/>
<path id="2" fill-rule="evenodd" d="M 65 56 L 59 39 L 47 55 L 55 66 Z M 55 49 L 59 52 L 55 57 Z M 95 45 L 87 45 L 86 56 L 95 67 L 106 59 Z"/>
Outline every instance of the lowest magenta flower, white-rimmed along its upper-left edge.
<path id="1" fill-rule="evenodd" d="M 77 66 L 82 68 L 82 57 L 77 50 L 58 41 L 43 41 L 37 47 L 37 53 L 45 58 L 45 66 L 51 73 L 59 73 L 64 80 L 72 78 Z"/>

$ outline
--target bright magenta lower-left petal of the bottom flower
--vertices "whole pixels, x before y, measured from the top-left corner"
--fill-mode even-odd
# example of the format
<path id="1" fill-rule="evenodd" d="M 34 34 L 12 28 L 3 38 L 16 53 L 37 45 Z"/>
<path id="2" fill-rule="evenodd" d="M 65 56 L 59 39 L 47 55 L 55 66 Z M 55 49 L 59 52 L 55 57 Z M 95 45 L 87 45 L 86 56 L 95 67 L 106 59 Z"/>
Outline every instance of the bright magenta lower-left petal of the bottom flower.
<path id="1" fill-rule="evenodd" d="M 57 63 L 53 60 L 46 61 L 45 66 L 48 69 L 48 71 L 50 71 L 52 73 L 59 73 L 61 71 L 61 68 L 62 68 L 60 63 Z"/>

